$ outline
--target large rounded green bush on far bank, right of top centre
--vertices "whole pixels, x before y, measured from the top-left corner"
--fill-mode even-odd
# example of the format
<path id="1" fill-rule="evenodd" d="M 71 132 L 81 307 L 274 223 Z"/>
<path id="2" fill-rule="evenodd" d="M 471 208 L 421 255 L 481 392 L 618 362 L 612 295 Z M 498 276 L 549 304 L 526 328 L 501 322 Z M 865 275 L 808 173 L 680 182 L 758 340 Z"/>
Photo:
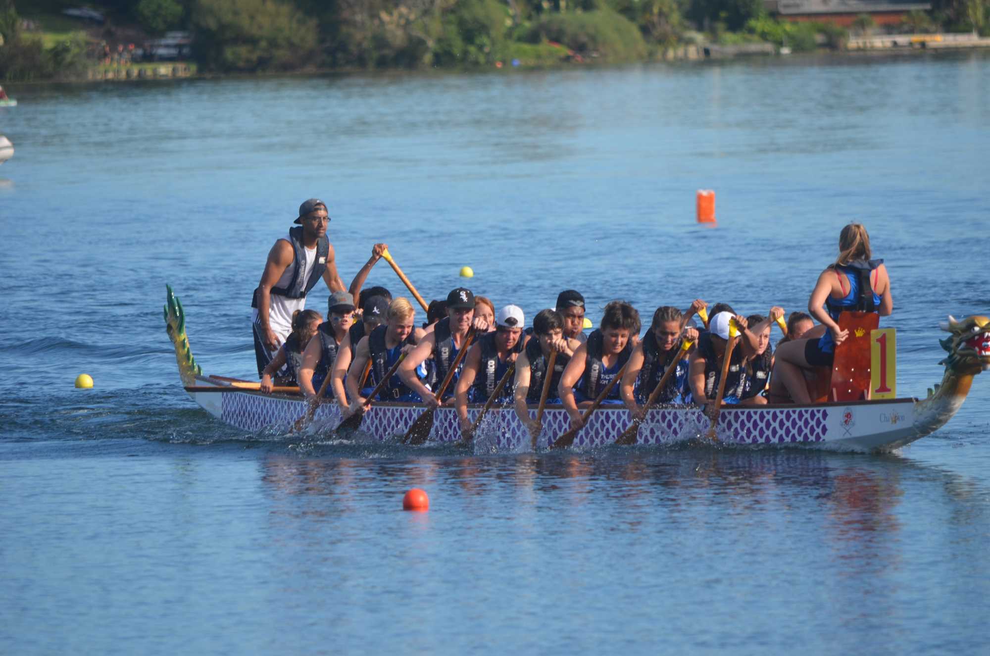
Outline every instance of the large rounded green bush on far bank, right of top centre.
<path id="1" fill-rule="evenodd" d="M 640 30 L 611 9 L 588 12 L 545 14 L 534 21 L 526 41 L 539 44 L 553 41 L 584 56 L 606 61 L 629 61 L 646 55 Z"/>

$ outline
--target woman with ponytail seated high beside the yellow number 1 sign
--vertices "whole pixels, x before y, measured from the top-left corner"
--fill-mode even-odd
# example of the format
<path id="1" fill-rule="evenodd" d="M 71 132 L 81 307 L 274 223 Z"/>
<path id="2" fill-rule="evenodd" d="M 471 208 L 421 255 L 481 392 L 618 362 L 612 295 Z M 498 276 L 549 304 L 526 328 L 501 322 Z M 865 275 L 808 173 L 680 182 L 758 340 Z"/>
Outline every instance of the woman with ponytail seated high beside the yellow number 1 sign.
<path id="1" fill-rule="evenodd" d="M 843 311 L 877 312 L 888 316 L 894 310 L 890 277 L 883 260 L 872 260 L 869 235 L 859 223 L 850 223 L 839 235 L 839 258 L 818 276 L 808 299 L 808 311 L 821 322 L 808 338 L 782 344 L 774 354 L 774 378 L 779 377 L 795 403 L 811 402 L 802 370 L 831 367 L 837 344 L 848 331 L 839 327 Z M 825 330 L 825 334 L 821 331 Z"/>

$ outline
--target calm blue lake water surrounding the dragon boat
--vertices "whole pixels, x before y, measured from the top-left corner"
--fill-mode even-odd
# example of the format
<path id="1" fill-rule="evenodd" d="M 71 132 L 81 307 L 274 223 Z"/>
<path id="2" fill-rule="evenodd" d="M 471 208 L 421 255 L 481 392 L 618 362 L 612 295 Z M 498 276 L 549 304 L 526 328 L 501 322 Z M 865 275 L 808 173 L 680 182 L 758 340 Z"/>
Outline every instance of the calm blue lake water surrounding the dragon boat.
<path id="1" fill-rule="evenodd" d="M 428 298 L 469 265 L 496 305 L 575 287 L 596 321 L 616 297 L 803 308 L 858 219 L 900 395 L 922 395 L 937 322 L 990 312 L 990 56 L 13 92 L 0 652 L 985 649 L 983 377 L 889 456 L 478 457 L 222 425 L 182 392 L 161 305 L 168 282 L 205 371 L 250 375 L 251 289 L 314 195 L 347 280 L 385 241 Z M 384 263 L 367 283 L 401 289 Z M 399 509 L 413 486 L 429 513 Z"/>

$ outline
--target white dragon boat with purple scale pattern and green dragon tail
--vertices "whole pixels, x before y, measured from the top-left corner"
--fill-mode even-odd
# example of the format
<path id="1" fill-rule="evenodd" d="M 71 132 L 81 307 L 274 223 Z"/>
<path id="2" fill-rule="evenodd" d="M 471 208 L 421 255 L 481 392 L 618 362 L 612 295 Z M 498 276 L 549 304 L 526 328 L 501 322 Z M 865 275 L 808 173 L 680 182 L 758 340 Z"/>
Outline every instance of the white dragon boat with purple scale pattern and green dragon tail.
<path id="1" fill-rule="evenodd" d="M 186 336 L 182 304 L 167 286 L 164 318 L 166 332 L 175 347 L 179 377 L 185 391 L 214 417 L 249 432 L 292 430 L 306 415 L 308 403 L 298 392 L 262 393 L 256 383 L 219 376 L 204 376 L 196 364 Z M 809 405 L 776 404 L 724 406 L 716 434 L 722 443 L 734 445 L 788 445 L 839 451 L 887 452 L 929 435 L 944 425 L 965 400 L 973 377 L 990 370 L 990 319 L 971 316 L 957 321 L 951 316 L 940 324 L 949 335 L 940 340 L 948 355 L 940 362 L 940 384 L 926 398 L 892 398 L 820 402 Z M 251 387 L 254 388 L 251 388 Z M 375 402 L 361 419 L 359 431 L 366 438 L 386 441 L 402 436 L 426 407 L 415 403 Z M 480 405 L 468 407 L 473 421 Z M 535 417 L 537 407 L 530 408 Z M 343 420 L 337 403 L 317 407 L 307 428 L 317 434 L 333 432 Z M 577 434 L 574 446 L 594 448 L 616 441 L 632 423 L 625 406 L 603 406 Z M 547 405 L 539 445 L 546 446 L 570 428 L 560 405 Z M 710 428 L 708 416 L 696 406 L 663 406 L 647 411 L 637 444 L 669 445 L 703 438 Z M 482 420 L 477 439 L 493 450 L 526 450 L 531 438 L 510 406 L 493 408 Z M 453 408 L 437 410 L 430 441 L 461 440 Z"/>

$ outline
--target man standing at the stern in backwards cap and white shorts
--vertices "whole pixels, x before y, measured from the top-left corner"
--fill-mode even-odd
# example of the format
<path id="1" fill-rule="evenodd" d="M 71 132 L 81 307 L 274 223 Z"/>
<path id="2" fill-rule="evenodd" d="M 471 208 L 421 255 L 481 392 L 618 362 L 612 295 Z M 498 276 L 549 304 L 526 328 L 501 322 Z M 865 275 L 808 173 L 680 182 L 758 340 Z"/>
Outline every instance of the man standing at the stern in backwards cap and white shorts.
<path id="1" fill-rule="evenodd" d="M 306 294 L 322 277 L 333 291 L 346 291 L 337 273 L 334 247 L 327 238 L 327 204 L 310 198 L 299 206 L 287 237 L 275 242 L 251 299 L 251 326 L 258 376 L 292 332 L 292 314 L 306 307 Z"/>

